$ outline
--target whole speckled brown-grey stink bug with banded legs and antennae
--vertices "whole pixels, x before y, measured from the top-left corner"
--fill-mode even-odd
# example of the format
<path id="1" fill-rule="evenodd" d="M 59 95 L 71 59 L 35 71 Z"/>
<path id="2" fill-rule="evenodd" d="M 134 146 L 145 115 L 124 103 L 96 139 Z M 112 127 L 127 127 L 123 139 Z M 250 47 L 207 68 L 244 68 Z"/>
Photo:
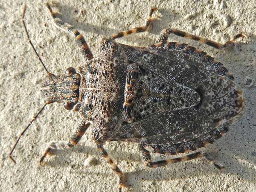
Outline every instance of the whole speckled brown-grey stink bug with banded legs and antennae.
<path id="1" fill-rule="evenodd" d="M 224 167 L 203 151 L 168 160 L 151 160 L 150 152 L 178 154 L 213 143 L 244 114 L 243 90 L 223 64 L 187 44 L 167 42 L 167 38 L 169 34 L 175 34 L 222 49 L 244 35 L 236 35 L 222 45 L 177 29 L 164 29 L 157 43 L 149 47 L 133 47 L 115 41 L 116 38 L 145 32 L 156 10 L 152 8 L 145 26 L 113 35 L 102 43 L 99 56 L 93 57 L 78 30 L 58 19 L 50 3 L 47 7 L 55 24 L 75 35 L 87 61 L 78 72 L 70 67 L 65 74 L 55 76 L 48 72 L 38 56 L 48 74 L 41 89 L 46 98 L 44 107 L 63 102 L 64 108 L 74 108 L 81 115 L 81 124 L 70 140 L 51 142 L 40 163 L 53 150 L 76 145 L 91 126 L 97 148 L 119 177 L 119 192 L 124 186 L 122 171 L 103 148 L 105 142 L 138 143 L 143 163 L 151 168 L 198 157 L 206 157 L 219 169 Z M 23 25 L 32 45 L 24 23 L 25 8 Z M 35 51 L 33 45 L 32 48 Z M 15 146 L 9 155 L 12 160 Z"/>

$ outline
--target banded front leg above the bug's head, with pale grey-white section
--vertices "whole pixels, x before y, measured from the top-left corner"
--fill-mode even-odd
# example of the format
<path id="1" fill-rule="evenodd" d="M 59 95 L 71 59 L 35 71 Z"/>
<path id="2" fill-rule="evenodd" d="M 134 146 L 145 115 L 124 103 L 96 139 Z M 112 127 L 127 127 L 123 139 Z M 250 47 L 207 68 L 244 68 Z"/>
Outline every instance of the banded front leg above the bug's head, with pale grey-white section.
<path id="1" fill-rule="evenodd" d="M 55 13 L 52 11 L 52 8 L 50 6 L 50 3 L 47 2 L 47 8 L 49 9 L 52 19 L 54 21 L 54 23 L 56 23 L 57 26 L 59 26 L 62 29 L 65 29 L 71 33 L 73 33 L 76 36 L 76 43 L 79 45 L 79 47 L 81 48 L 81 52 L 84 55 L 85 58 L 87 58 L 88 60 L 93 58 L 93 54 L 90 51 L 90 48 L 88 47 L 86 41 L 84 40 L 83 35 L 81 35 L 77 29 L 75 29 L 73 26 L 71 26 L 68 23 L 65 23 L 64 21 L 60 20 L 59 18 L 56 18 Z"/>

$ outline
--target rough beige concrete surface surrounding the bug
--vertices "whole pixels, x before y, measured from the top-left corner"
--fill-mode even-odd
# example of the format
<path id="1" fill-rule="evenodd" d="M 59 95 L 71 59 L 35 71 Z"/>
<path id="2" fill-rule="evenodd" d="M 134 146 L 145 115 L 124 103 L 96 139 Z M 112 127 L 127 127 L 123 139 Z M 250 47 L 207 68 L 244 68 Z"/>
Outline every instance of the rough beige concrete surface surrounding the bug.
<path id="1" fill-rule="evenodd" d="M 27 0 L 26 23 L 38 53 L 51 73 L 84 63 L 72 35 L 55 27 L 43 0 Z M 246 113 L 225 137 L 208 145 L 205 151 L 226 168 L 218 171 L 204 159 L 149 169 L 140 163 L 137 145 L 107 143 L 113 160 L 126 173 L 134 192 L 216 192 L 256 191 L 256 89 L 247 87 L 256 80 L 256 2 L 255 0 L 79 0 L 60 1 L 61 18 L 84 35 L 93 54 L 102 40 L 117 32 L 145 24 L 151 6 L 159 11 L 154 27 L 143 34 L 122 40 L 124 44 L 153 44 L 163 28 L 177 28 L 220 43 L 243 32 L 246 39 L 235 47 L 217 50 L 198 42 L 171 35 L 169 41 L 189 43 L 221 61 L 244 88 Z M 40 84 L 46 73 L 27 43 L 21 23 L 22 0 L 0 1 L 0 191 L 3 192 L 99 192 L 117 191 L 116 175 L 96 151 L 90 131 L 76 148 L 60 151 L 38 161 L 52 140 L 67 140 L 79 122 L 78 114 L 62 104 L 46 107 L 21 138 L 13 153 L 8 153 L 21 130 L 44 104 Z M 163 159 L 163 155 L 154 155 Z"/>

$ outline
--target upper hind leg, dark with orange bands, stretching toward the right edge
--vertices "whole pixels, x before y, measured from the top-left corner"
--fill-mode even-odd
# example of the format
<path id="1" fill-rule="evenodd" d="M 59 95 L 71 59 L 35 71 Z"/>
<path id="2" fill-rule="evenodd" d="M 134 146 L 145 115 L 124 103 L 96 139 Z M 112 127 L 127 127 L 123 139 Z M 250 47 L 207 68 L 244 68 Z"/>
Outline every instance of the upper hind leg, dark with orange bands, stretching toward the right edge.
<path id="1" fill-rule="evenodd" d="M 157 42 L 163 42 L 166 43 L 167 38 L 169 37 L 170 34 L 174 34 L 183 38 L 188 38 L 188 39 L 192 39 L 195 41 L 200 41 L 203 44 L 207 44 L 211 47 L 214 47 L 216 49 L 223 49 L 225 47 L 227 47 L 229 44 L 234 44 L 234 41 L 238 38 L 245 38 L 245 36 L 243 34 L 238 34 L 236 35 L 234 38 L 231 38 L 229 41 L 227 41 L 225 44 L 219 44 L 217 42 L 205 39 L 205 38 L 200 38 L 197 37 L 195 35 L 180 31 L 178 29 L 163 29 L 163 31 L 160 33 L 159 38 L 157 40 Z"/>

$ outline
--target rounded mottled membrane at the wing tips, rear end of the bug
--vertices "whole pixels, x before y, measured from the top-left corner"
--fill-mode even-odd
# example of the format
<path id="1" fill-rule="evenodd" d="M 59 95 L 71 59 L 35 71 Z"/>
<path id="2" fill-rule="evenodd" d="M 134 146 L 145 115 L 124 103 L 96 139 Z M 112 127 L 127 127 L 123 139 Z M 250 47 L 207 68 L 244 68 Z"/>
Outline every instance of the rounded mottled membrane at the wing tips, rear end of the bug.
<path id="1" fill-rule="evenodd" d="M 201 97 L 197 108 L 213 119 L 214 127 L 230 126 L 244 115 L 244 92 L 234 81 L 224 76 L 212 76 L 203 81 L 196 91 Z"/>

